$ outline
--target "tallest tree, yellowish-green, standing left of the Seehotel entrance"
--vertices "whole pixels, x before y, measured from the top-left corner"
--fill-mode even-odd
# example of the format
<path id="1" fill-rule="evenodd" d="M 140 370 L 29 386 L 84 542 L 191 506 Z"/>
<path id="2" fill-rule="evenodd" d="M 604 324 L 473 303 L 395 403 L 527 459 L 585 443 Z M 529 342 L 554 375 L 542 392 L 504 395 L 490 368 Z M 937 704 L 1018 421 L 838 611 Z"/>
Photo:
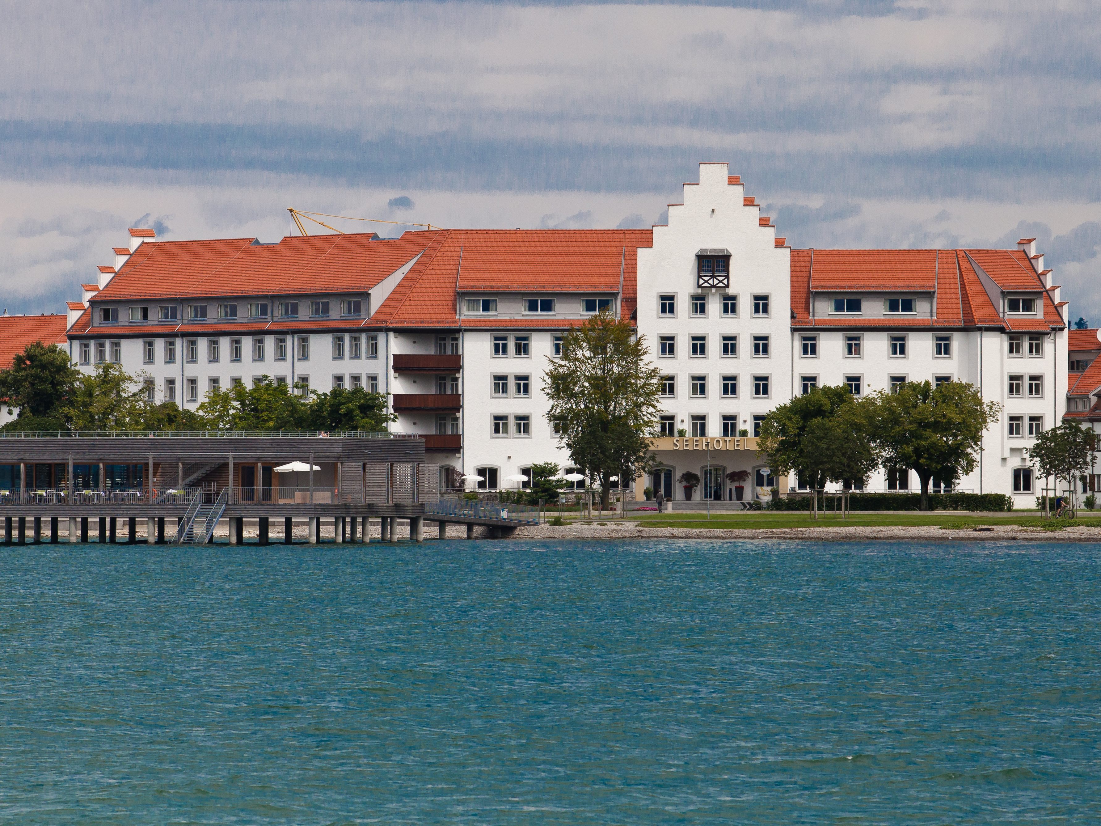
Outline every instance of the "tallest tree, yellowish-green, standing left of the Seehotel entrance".
<path id="1" fill-rule="evenodd" d="M 661 373 L 631 324 L 599 313 L 570 329 L 562 358 L 543 374 L 547 420 L 579 470 L 596 479 L 603 507 L 609 477 L 643 475 L 653 465 Z"/>

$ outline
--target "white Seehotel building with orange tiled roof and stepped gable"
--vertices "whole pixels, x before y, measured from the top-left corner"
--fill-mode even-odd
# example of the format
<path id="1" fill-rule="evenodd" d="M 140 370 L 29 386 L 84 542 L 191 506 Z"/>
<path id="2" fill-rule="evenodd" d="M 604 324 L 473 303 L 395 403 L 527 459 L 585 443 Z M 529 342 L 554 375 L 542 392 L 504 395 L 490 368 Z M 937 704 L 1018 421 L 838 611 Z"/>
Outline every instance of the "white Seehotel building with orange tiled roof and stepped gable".
<path id="1" fill-rule="evenodd" d="M 261 376 L 377 389 L 395 430 L 426 434 L 442 480 L 454 468 L 493 488 L 534 463 L 569 465 L 542 373 L 565 329 L 609 309 L 637 326 L 665 376 L 662 467 L 645 483 L 677 500 L 685 470 L 704 478 L 697 499 L 796 487 L 766 478 L 754 450 L 762 417 L 793 394 L 928 379 L 971 382 L 1004 407 L 956 487 L 1033 501 L 1024 450 L 1066 411 L 1068 311 L 1032 239 L 1015 250 L 792 249 L 722 163 L 700 164 L 668 216 L 652 230 L 269 244 L 131 230 L 68 305 L 68 347 L 81 369 L 118 361 L 149 377 L 156 401 L 192 409 Z M 731 470 L 751 480 L 729 482 Z M 877 474 L 865 489 L 916 485 Z"/>

